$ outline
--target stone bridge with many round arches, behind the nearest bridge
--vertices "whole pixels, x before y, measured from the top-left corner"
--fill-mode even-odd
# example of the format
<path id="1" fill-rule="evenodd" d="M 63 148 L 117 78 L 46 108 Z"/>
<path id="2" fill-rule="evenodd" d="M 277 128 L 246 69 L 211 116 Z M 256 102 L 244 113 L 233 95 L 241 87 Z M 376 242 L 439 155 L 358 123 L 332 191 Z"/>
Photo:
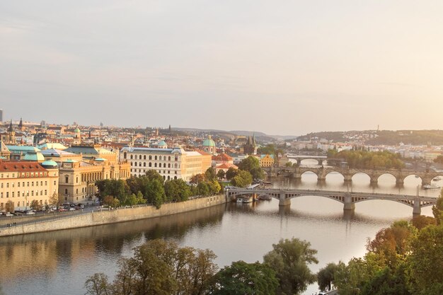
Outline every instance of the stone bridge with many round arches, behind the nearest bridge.
<path id="1" fill-rule="evenodd" d="M 352 176 L 357 173 L 364 173 L 369 176 L 371 183 L 377 183 L 379 177 L 384 174 L 393 175 L 396 178 L 397 184 L 403 184 L 405 178 L 409 175 L 417 175 L 422 180 L 422 185 L 430 185 L 433 178 L 437 176 L 443 176 L 443 173 L 427 170 L 425 172 L 418 172 L 410 169 L 356 169 L 356 168 L 340 168 L 330 166 L 320 167 L 305 167 L 305 166 L 292 166 L 292 167 L 270 167 L 265 168 L 268 178 L 284 176 L 288 178 L 301 179 L 301 175 L 306 172 L 315 173 L 317 180 L 326 180 L 326 175 L 329 173 L 340 173 L 343 175 L 345 182 L 351 182 Z"/>

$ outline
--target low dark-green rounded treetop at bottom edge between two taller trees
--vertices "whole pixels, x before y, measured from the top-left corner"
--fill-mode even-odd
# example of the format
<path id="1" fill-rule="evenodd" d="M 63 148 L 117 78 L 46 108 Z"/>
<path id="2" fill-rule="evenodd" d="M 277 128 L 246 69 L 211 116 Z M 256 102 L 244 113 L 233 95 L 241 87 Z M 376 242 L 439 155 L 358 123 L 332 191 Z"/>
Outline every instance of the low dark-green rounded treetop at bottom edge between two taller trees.
<path id="1" fill-rule="evenodd" d="M 278 286 L 275 271 L 259 262 L 232 262 L 214 277 L 212 295 L 273 295 Z"/>

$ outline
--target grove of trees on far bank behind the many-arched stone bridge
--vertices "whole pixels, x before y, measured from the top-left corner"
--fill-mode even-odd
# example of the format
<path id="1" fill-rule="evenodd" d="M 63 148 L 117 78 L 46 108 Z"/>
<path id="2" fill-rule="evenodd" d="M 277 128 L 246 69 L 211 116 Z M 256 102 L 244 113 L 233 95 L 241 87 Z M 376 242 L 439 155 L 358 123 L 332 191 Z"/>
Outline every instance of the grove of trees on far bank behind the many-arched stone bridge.
<path id="1" fill-rule="evenodd" d="M 328 158 L 343 158 L 349 168 L 401 169 L 405 167 L 398 154 L 389 151 L 328 151 Z"/>

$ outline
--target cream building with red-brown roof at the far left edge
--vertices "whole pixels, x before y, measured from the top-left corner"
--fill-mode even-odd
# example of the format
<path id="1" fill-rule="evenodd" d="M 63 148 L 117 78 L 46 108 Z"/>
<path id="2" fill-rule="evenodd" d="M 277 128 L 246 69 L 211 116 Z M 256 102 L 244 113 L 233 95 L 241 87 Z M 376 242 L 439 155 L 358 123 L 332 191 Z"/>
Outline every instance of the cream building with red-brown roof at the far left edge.
<path id="1" fill-rule="evenodd" d="M 12 202 L 16 210 L 29 209 L 37 200 L 42 206 L 57 194 L 59 169 L 54 161 L 3 161 L 0 159 L 0 211 Z"/>

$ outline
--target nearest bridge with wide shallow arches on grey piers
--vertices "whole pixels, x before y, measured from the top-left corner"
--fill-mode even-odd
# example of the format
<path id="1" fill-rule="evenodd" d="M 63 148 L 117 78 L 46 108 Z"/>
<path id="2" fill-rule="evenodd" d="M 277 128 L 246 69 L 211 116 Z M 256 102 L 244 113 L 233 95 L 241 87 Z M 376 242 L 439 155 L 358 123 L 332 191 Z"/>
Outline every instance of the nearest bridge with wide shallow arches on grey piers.
<path id="1" fill-rule="evenodd" d="M 303 196 L 317 196 L 333 199 L 343 204 L 343 210 L 354 210 L 355 204 L 371 199 L 385 199 L 393 202 L 405 204 L 413 208 L 413 214 L 420 214 L 422 207 L 437 204 L 436 197 L 423 197 L 420 195 L 393 195 L 375 192 L 336 192 L 330 190 L 281 190 L 281 189 L 246 189 L 231 188 L 226 189 L 226 197 L 232 201 L 242 195 L 253 195 L 254 197 L 270 196 L 280 201 L 280 206 L 291 204 L 291 199 Z"/>

